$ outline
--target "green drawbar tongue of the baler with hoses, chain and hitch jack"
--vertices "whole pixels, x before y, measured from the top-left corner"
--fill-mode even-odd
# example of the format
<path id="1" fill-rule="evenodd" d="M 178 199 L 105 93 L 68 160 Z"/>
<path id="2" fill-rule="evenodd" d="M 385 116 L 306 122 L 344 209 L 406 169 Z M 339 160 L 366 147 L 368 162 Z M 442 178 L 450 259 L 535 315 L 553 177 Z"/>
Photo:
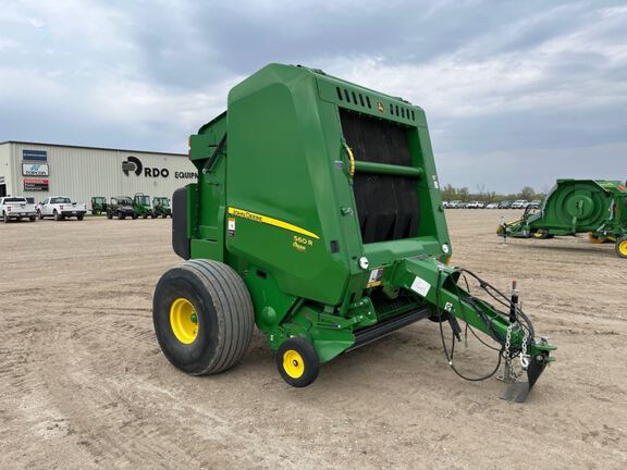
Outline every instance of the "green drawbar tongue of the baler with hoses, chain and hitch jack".
<path id="1" fill-rule="evenodd" d="M 500 379 L 509 385 L 502 398 L 524 403 L 544 368 L 554 360 L 551 351 L 556 349 L 556 346 L 549 344 L 543 337 L 536 339 L 533 325 L 520 309 L 516 282 L 513 283 L 511 297 L 507 297 L 472 272 L 447 267 L 431 257 L 407 258 L 399 264 L 402 269 L 396 270 L 393 282 L 418 294 L 434 307 L 435 320 L 440 323 L 444 354 L 453 371 L 462 379 L 477 382 L 495 375 L 503 362 L 504 372 Z M 493 305 L 462 288 L 458 285 L 462 275 L 468 275 L 478 281 L 480 287 L 506 311 L 499 310 Z M 455 318 L 466 322 L 468 329 L 477 329 L 489 335 L 501 346 L 497 363 L 492 372 L 483 376 L 470 378 L 456 369 L 453 354 L 455 342 L 456 339 L 459 341 L 459 326 L 456 321 L 451 322 Z M 444 339 L 442 325 L 445 321 L 451 323 L 453 330 L 451 349 Z M 527 382 L 518 382 L 518 376 L 521 373 L 514 371 L 516 358 L 520 362 L 520 372 L 527 373 Z"/>

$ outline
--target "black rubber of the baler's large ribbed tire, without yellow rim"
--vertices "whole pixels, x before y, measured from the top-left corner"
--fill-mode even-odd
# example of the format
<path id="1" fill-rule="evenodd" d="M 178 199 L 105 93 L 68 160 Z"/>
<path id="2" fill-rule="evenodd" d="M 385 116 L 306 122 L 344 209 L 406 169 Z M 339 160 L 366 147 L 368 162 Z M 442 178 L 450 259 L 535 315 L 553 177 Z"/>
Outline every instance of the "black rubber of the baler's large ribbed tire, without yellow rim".
<path id="1" fill-rule="evenodd" d="M 180 297 L 192 302 L 198 318 L 198 333 L 190 344 L 179 341 L 170 323 L 170 308 Z M 168 360 L 188 374 L 206 375 L 239 362 L 253 337 L 255 312 L 244 281 L 231 267 L 189 260 L 157 283 L 152 321 Z"/>

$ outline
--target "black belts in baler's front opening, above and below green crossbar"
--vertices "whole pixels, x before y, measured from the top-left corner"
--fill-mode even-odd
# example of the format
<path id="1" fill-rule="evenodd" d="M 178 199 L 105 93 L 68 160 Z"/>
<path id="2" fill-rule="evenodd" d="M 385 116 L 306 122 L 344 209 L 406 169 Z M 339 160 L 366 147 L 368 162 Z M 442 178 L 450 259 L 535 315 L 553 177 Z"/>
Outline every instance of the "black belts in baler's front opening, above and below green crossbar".
<path id="1" fill-rule="evenodd" d="M 340 118 L 355 160 L 413 165 L 404 127 L 345 110 L 340 110 Z M 355 200 L 365 244 L 418 235 L 416 182 L 409 176 L 355 174 Z"/>

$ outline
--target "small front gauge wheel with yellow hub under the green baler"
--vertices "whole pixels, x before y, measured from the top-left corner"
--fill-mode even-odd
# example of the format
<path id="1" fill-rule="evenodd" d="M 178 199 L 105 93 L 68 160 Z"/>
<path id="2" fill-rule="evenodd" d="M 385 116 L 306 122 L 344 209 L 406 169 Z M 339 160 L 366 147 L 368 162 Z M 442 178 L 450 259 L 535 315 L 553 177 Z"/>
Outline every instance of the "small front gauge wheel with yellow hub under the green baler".
<path id="1" fill-rule="evenodd" d="M 285 339 L 279 346 L 275 360 L 281 376 L 293 387 L 310 385 L 320 372 L 320 359 L 314 345 L 298 336 Z"/>

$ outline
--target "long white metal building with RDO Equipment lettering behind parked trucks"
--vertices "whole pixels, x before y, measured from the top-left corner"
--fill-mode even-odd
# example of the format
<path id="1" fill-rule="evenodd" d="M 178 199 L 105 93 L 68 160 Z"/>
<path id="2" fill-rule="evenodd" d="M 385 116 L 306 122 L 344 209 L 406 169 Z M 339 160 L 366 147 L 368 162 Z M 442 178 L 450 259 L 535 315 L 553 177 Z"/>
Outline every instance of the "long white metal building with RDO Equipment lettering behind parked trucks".
<path id="1" fill-rule="evenodd" d="M 161 153 L 25 141 L 0 143 L 0 197 L 23 196 L 39 202 L 69 196 L 87 202 L 93 196 L 172 197 L 197 180 L 183 153 Z"/>

